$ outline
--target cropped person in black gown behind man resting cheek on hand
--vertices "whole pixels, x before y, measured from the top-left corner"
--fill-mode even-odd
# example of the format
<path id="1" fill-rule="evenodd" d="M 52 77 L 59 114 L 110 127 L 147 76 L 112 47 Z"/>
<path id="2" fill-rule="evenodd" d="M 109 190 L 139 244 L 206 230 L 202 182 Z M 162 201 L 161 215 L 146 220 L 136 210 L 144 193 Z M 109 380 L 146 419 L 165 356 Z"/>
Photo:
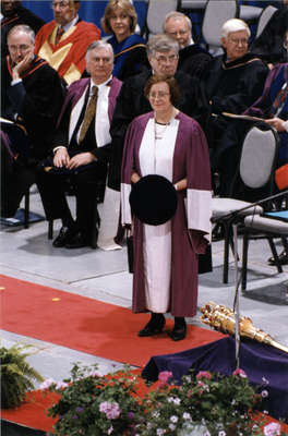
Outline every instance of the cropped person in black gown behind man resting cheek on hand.
<path id="1" fill-rule="evenodd" d="M 9 55 L 7 36 L 12 27 L 26 24 L 35 34 L 45 21 L 22 5 L 21 0 L 1 0 L 1 58 Z"/>

